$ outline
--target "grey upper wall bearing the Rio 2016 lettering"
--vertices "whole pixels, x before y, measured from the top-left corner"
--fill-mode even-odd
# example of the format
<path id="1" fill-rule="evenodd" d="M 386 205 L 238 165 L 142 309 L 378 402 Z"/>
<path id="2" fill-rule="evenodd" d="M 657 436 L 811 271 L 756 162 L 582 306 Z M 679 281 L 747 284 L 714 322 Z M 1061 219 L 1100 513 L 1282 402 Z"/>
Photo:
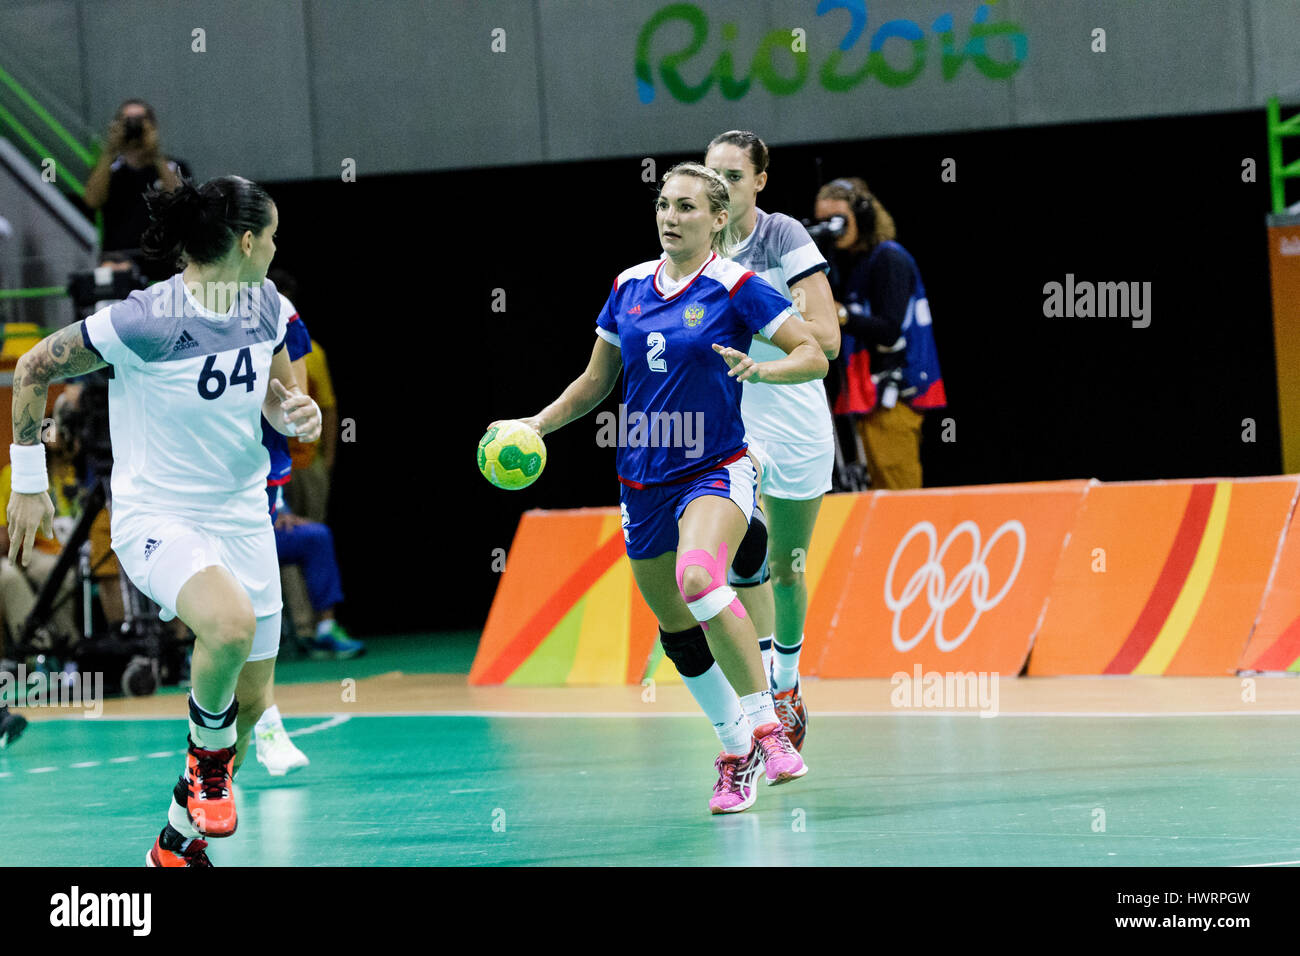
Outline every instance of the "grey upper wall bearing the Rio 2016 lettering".
<path id="1" fill-rule="evenodd" d="M 100 130 L 118 101 L 143 96 L 200 178 L 656 155 L 736 126 L 780 144 L 1300 99 L 1296 0 L 840 0 L 822 16 L 818 0 L 701 0 L 651 27 L 668 7 L 0 0 L 0 65 L 21 62 Z M 1002 35 L 980 40 L 980 29 Z M 751 77 L 764 38 L 771 72 Z M 883 59 L 868 64 L 874 42 Z"/>

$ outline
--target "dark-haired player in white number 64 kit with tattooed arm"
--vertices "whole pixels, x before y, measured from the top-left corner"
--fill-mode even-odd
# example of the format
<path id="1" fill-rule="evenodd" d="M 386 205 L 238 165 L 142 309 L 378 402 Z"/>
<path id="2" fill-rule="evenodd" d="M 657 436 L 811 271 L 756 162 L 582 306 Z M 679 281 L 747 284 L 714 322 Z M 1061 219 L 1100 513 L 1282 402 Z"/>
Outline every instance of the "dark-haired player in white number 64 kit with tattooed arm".
<path id="1" fill-rule="evenodd" d="M 186 769 L 151 866 L 211 866 L 229 836 L 231 775 L 264 706 L 280 646 L 280 566 L 266 512 L 265 415 L 320 436 L 320 410 L 294 384 L 276 287 L 278 212 L 254 182 L 222 177 L 147 196 L 143 247 L 185 272 L 60 329 L 18 360 L 13 382 L 9 559 L 23 563 L 53 507 L 40 421 L 51 381 L 112 365 L 113 550 L 131 581 L 196 636 Z"/>

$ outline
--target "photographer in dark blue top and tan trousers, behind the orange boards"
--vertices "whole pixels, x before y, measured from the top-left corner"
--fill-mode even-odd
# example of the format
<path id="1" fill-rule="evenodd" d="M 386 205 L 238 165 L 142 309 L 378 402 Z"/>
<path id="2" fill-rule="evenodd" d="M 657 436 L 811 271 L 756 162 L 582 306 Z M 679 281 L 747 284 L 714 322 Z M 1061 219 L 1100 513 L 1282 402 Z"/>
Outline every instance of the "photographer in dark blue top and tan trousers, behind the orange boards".
<path id="1" fill-rule="evenodd" d="M 842 330 L 835 414 L 862 416 L 874 489 L 920 488 L 923 414 L 948 403 L 920 271 L 862 179 L 818 190 L 815 216 Z"/>

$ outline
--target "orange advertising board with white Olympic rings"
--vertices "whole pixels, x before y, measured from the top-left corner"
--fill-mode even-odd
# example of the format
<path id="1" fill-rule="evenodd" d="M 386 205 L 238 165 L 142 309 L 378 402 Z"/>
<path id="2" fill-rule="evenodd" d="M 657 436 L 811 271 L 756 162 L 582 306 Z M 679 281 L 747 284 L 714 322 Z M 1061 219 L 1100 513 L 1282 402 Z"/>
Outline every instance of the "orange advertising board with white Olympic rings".
<path id="1" fill-rule="evenodd" d="M 807 672 L 1018 674 L 1088 490 L 1067 481 L 872 494 Z"/>

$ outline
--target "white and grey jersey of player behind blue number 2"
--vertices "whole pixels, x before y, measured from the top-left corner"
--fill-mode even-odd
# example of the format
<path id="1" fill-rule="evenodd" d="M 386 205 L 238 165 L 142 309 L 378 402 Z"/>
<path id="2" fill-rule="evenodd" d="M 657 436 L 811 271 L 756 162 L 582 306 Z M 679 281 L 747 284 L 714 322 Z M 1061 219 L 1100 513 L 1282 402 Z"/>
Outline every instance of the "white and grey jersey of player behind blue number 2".
<path id="1" fill-rule="evenodd" d="M 755 212 L 754 232 L 731 258 L 789 299 L 789 284 L 826 271 L 827 261 L 797 220 L 779 212 Z M 754 362 L 785 358 L 785 352 L 766 342 L 754 342 L 749 355 Z M 800 385 L 745 382 L 741 416 L 746 433 L 759 441 L 816 445 L 833 438 L 831 406 L 820 378 Z"/>

